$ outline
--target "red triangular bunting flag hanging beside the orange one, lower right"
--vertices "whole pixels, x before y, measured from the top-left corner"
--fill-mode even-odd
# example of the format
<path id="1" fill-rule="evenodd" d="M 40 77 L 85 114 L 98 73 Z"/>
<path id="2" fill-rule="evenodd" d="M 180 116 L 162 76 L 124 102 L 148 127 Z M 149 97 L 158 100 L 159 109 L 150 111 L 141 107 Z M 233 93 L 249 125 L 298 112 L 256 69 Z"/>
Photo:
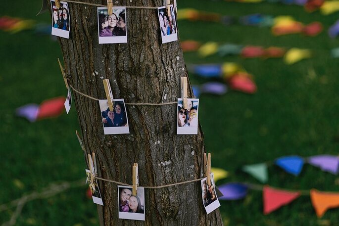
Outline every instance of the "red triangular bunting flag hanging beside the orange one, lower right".
<path id="1" fill-rule="evenodd" d="M 269 186 L 263 188 L 264 214 L 267 215 L 281 206 L 289 204 L 300 196 L 300 192 L 278 190 Z"/>

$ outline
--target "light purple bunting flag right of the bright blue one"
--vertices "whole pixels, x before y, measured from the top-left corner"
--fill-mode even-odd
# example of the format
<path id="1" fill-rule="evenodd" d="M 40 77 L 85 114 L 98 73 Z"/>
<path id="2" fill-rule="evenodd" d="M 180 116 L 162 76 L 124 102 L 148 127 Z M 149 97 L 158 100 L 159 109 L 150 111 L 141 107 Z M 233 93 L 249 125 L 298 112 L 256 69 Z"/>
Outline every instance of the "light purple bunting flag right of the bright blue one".
<path id="1" fill-rule="evenodd" d="M 321 170 L 330 172 L 334 175 L 338 174 L 339 157 L 335 155 L 316 155 L 307 159 L 312 166 L 319 167 Z"/>

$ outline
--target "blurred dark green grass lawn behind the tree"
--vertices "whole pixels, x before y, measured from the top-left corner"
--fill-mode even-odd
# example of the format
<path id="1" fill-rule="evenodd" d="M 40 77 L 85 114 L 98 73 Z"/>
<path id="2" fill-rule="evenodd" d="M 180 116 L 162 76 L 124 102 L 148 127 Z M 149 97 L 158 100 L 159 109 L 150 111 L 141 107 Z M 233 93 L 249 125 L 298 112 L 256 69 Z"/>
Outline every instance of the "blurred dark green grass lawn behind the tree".
<path id="1" fill-rule="evenodd" d="M 40 16 L 41 0 L 11 1 L 0 7 L 0 15 L 50 23 L 49 13 Z M 263 13 L 291 15 L 305 24 L 320 21 L 324 31 L 317 37 L 286 35 L 274 37 L 269 28 L 242 25 L 224 26 L 212 22 L 179 21 L 180 39 L 215 41 L 241 45 L 271 45 L 310 48 L 314 56 L 288 66 L 282 59 L 242 59 L 239 56 L 200 58 L 185 53 L 189 63 L 236 62 L 254 75 L 257 93 L 229 91 L 223 96 L 200 96 L 199 121 L 205 135 L 206 150 L 212 153 L 212 167 L 231 172 L 218 181 L 257 182 L 239 171 L 242 165 L 272 161 L 283 155 L 338 155 L 339 88 L 338 59 L 330 50 L 339 41 L 327 29 L 339 13 L 323 16 L 308 13 L 300 6 L 279 3 L 246 4 L 225 1 L 178 1 L 179 8 L 192 7 L 224 15 L 243 16 Z M 14 116 L 15 108 L 41 103 L 67 90 L 56 58 L 60 47 L 50 36 L 33 31 L 10 34 L 0 31 L 0 150 L 2 161 L 0 204 L 52 182 L 85 179 L 83 153 L 75 136 L 79 129 L 75 108 L 66 115 L 29 123 Z M 315 73 L 313 73 L 314 71 Z M 190 75 L 193 84 L 205 79 Z M 337 177 L 305 165 L 299 177 L 275 166 L 269 167 L 268 184 L 281 188 L 339 191 Z M 98 225 L 96 205 L 86 197 L 87 186 L 72 188 L 47 199 L 28 202 L 18 217 L 18 226 Z M 199 200 L 197 200 L 199 201 Z M 317 219 L 310 198 L 302 196 L 288 206 L 262 214 L 262 194 L 250 191 L 244 200 L 221 201 L 225 225 L 230 226 L 335 226 L 339 209 L 329 210 Z M 14 208 L 0 212 L 0 223 L 9 220 Z"/>

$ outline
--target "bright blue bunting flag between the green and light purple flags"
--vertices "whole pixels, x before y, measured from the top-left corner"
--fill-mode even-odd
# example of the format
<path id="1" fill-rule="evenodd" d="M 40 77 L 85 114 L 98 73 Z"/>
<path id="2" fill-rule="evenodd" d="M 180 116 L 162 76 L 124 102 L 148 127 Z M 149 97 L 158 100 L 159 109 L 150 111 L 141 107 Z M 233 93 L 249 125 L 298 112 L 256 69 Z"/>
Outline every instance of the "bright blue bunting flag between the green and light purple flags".
<path id="1" fill-rule="evenodd" d="M 275 163 L 286 172 L 298 176 L 304 165 L 304 159 L 299 156 L 286 156 L 278 158 Z"/>

